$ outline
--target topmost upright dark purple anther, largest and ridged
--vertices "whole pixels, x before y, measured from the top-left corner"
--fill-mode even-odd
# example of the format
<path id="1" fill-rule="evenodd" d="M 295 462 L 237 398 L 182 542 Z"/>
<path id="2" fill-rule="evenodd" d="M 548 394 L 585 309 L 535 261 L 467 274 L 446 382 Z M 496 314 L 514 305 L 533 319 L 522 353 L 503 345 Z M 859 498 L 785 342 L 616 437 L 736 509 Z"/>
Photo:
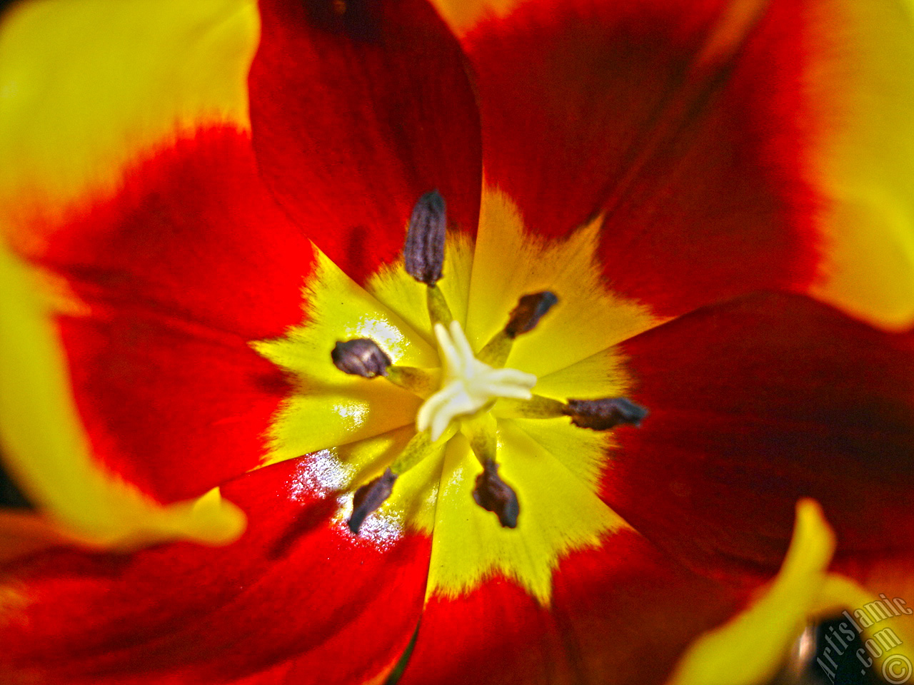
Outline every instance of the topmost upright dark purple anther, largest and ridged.
<path id="1" fill-rule="evenodd" d="M 441 193 L 432 190 L 422 195 L 409 217 L 403 261 L 407 273 L 428 286 L 441 279 L 446 228 L 447 208 Z"/>

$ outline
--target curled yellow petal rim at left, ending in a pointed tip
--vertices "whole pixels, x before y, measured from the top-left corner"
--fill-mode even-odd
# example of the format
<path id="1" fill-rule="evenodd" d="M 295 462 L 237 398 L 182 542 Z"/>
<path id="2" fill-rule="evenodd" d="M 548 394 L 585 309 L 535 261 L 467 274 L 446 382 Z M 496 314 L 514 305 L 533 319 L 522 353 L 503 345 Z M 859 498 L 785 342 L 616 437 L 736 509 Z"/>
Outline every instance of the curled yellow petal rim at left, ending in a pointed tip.
<path id="1" fill-rule="evenodd" d="M 223 501 L 218 489 L 162 506 L 95 463 L 34 273 L 2 243 L 0 293 L 0 452 L 41 516 L 41 522 L 18 529 L 27 539 L 20 542 L 53 542 L 46 524 L 56 526 L 60 540 L 124 551 L 175 539 L 237 539 L 244 514 Z M 0 523 L 0 540 L 10 543 L 15 522 Z"/>

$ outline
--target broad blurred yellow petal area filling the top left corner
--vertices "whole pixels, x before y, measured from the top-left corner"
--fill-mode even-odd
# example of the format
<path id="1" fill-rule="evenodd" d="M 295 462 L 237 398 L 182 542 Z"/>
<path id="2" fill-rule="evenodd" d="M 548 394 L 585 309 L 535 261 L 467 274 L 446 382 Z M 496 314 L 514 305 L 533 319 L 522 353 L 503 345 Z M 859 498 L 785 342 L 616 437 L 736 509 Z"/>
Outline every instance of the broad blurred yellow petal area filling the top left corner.
<path id="1" fill-rule="evenodd" d="M 201 122 L 249 127 L 254 0 L 40 0 L 0 23 L 0 212 L 109 190 Z"/>

